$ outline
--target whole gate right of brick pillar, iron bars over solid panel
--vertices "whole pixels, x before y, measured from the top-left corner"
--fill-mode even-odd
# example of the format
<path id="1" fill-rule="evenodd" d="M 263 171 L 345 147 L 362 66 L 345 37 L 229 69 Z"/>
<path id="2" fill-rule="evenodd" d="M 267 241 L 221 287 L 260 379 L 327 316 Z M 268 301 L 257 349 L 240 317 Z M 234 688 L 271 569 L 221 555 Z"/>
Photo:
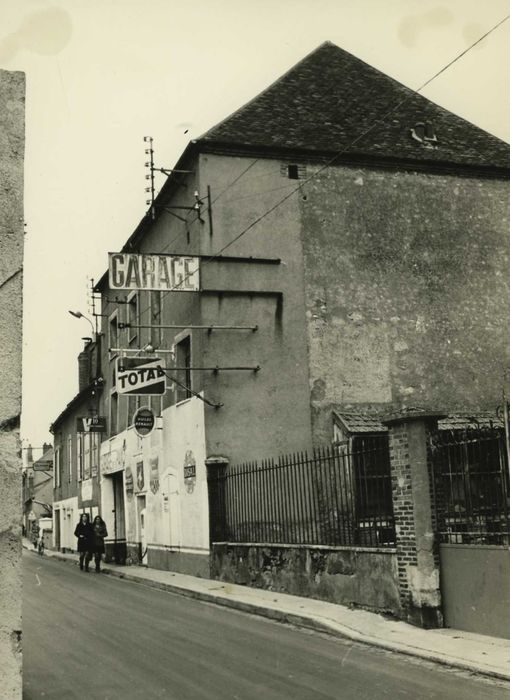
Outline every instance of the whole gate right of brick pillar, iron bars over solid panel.
<path id="1" fill-rule="evenodd" d="M 433 484 L 447 627 L 510 638 L 510 489 L 500 430 L 438 431 Z"/>

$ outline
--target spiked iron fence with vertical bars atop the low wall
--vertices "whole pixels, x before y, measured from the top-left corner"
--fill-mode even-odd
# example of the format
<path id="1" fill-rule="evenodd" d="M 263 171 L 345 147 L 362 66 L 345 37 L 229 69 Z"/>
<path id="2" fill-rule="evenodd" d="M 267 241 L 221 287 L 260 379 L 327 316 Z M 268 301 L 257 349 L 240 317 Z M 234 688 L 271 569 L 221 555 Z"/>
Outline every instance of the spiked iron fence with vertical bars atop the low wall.
<path id="1" fill-rule="evenodd" d="M 215 542 L 392 545 L 388 438 L 246 462 L 209 479 Z"/>

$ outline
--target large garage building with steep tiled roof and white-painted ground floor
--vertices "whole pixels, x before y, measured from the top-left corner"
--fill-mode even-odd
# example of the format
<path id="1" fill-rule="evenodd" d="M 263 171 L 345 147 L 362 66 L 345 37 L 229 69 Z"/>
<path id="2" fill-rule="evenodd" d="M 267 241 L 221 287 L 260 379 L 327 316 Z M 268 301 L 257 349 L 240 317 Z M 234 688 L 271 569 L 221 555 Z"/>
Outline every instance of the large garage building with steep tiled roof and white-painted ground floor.
<path id="1" fill-rule="evenodd" d="M 329 42 L 191 142 L 95 288 L 108 556 L 207 575 L 208 474 L 390 410 L 495 411 L 509 156 Z M 120 391 L 136 355 L 162 396 Z"/>

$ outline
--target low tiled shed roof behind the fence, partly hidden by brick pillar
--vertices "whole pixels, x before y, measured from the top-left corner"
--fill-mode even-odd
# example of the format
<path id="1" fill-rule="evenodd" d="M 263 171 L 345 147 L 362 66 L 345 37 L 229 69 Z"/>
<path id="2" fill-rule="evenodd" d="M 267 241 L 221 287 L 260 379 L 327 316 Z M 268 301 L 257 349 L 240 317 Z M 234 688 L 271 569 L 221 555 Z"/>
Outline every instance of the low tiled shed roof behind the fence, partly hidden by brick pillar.
<path id="1" fill-rule="evenodd" d="M 333 419 L 339 421 L 348 433 L 385 433 L 388 428 L 381 423 L 381 418 L 358 412 L 333 411 Z M 502 428 L 503 422 L 488 411 L 476 413 L 452 413 L 438 421 L 439 430 L 470 430 L 476 428 Z"/>

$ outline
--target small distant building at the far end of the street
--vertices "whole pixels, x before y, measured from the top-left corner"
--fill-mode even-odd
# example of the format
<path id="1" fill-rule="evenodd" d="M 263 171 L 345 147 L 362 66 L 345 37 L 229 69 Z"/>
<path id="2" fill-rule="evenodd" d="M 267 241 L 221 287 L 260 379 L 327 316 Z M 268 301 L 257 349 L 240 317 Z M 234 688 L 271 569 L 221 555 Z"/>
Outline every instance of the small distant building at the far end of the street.
<path id="1" fill-rule="evenodd" d="M 28 537 L 32 523 L 52 517 L 53 447 L 44 443 L 42 455 L 34 461 L 29 445 L 25 451 L 22 470 L 23 531 Z"/>

